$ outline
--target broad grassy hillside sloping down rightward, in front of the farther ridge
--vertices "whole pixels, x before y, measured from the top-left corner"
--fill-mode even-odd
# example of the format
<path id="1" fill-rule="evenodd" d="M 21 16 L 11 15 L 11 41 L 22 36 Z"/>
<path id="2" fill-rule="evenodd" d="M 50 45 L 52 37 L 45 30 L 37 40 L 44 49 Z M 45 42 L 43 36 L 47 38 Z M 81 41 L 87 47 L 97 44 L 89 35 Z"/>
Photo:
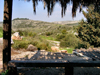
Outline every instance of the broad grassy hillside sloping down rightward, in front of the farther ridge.
<path id="1" fill-rule="evenodd" d="M 60 32 L 61 29 L 72 29 L 71 25 L 60 25 L 50 22 L 34 21 L 34 20 L 14 20 L 12 21 L 12 29 L 31 30 L 36 33 Z"/>

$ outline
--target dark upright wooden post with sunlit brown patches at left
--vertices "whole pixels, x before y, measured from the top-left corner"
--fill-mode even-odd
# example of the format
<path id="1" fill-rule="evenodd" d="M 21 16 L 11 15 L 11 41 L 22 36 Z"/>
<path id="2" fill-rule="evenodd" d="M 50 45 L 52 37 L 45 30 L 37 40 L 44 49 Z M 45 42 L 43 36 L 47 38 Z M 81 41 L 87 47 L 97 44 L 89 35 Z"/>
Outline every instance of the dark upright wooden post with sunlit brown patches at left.
<path id="1" fill-rule="evenodd" d="M 12 18 L 12 0 L 4 0 L 3 71 L 7 70 L 8 62 L 11 60 L 11 18 Z"/>

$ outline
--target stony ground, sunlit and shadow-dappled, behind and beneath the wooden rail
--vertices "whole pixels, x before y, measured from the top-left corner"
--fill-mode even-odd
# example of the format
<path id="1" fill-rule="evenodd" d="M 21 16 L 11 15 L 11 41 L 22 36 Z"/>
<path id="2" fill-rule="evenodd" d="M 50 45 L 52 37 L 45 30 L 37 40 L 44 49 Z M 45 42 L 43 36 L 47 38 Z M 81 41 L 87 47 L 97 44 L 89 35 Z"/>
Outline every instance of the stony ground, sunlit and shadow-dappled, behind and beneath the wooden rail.
<path id="1" fill-rule="evenodd" d="M 74 50 L 75 51 L 75 50 Z M 83 51 L 76 50 L 77 52 Z M 98 53 L 93 52 L 94 50 L 90 50 L 91 53 Z M 99 51 L 99 50 L 98 50 Z M 84 50 L 85 54 L 88 55 L 89 50 Z M 83 52 L 83 54 L 84 54 Z M 64 54 L 64 53 L 52 53 L 42 51 L 35 51 L 30 52 L 24 49 L 21 50 L 11 50 L 12 60 L 86 60 L 86 58 L 78 57 L 73 54 Z M 89 55 L 88 55 L 89 56 Z M 97 55 L 99 58 L 99 53 Z M 92 60 L 87 58 L 88 60 Z M 2 46 L 0 46 L 0 68 L 2 68 Z M 65 68 L 64 67 L 32 67 L 32 68 L 19 68 L 18 73 L 19 75 L 65 75 Z M 1 69 L 2 70 L 2 69 Z M 100 67 L 75 67 L 74 68 L 74 75 L 100 75 Z"/>

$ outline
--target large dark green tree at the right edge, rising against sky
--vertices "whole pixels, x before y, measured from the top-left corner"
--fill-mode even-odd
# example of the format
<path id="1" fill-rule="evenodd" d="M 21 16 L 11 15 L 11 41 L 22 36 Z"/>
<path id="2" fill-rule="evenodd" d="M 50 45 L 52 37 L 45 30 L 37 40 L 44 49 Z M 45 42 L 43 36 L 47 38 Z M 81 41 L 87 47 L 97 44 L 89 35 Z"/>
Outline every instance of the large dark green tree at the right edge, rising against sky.
<path id="1" fill-rule="evenodd" d="M 83 11 L 86 21 L 81 20 L 77 28 L 78 37 L 90 45 L 100 46 L 100 13 L 90 5 L 87 12 Z"/>

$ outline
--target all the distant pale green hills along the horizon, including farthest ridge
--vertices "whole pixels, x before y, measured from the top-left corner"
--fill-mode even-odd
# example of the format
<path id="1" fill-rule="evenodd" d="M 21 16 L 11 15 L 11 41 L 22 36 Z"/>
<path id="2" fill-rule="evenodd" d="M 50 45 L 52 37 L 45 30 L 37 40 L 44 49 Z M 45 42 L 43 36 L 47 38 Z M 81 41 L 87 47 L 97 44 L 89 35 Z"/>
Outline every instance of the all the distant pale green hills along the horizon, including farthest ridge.
<path id="1" fill-rule="evenodd" d="M 0 22 L 0 26 L 3 23 Z M 35 21 L 29 19 L 14 19 L 12 20 L 12 30 L 26 30 L 33 31 L 36 33 L 45 33 L 45 32 L 61 32 L 63 29 L 69 31 L 72 29 L 73 25 L 78 25 L 78 21 L 64 21 L 64 22 L 44 22 L 44 21 Z"/>

